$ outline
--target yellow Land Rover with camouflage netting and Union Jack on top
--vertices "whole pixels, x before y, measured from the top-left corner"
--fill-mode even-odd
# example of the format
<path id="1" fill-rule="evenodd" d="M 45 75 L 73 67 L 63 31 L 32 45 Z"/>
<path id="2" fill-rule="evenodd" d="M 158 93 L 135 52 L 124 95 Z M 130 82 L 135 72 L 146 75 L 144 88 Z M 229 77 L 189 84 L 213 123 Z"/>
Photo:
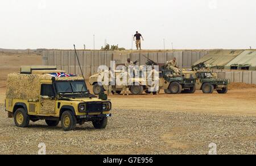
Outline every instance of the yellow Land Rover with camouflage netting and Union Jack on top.
<path id="1" fill-rule="evenodd" d="M 8 75 L 6 88 L 5 109 L 18 127 L 45 120 L 48 126 L 61 122 L 64 131 L 85 122 L 105 128 L 112 117 L 112 103 L 105 94 L 97 98 L 83 77 L 56 67 L 21 67 L 20 73 Z"/>

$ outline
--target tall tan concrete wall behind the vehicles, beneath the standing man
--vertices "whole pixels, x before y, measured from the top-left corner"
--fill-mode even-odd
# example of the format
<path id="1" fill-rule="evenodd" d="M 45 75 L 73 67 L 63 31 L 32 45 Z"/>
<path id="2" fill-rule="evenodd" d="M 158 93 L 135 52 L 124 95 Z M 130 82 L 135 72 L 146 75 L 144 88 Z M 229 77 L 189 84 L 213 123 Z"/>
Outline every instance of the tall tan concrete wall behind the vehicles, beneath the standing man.
<path id="1" fill-rule="evenodd" d="M 191 68 L 191 65 L 201 57 L 209 53 L 209 51 L 77 51 L 82 72 L 86 79 L 92 74 L 97 73 L 100 65 L 110 67 L 110 61 L 116 64 L 124 64 L 127 58 L 132 61 L 140 60 L 137 65 L 145 65 L 147 58 L 156 63 L 166 63 L 174 57 L 180 68 Z M 144 56 L 146 57 L 144 57 Z M 65 70 L 68 73 L 81 74 L 79 62 L 72 50 L 49 50 L 44 51 L 43 65 L 56 65 L 58 69 Z"/>

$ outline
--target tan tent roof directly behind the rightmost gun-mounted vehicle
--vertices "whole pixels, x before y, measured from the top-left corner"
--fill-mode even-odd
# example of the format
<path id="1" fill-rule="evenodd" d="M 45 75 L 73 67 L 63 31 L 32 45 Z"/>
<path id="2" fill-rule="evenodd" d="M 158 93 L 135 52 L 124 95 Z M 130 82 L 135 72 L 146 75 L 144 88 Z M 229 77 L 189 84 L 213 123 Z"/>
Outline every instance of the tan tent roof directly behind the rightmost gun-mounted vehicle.
<path id="1" fill-rule="evenodd" d="M 196 61 L 197 65 L 205 62 L 206 65 L 211 66 L 213 69 L 224 69 L 225 65 L 240 55 L 243 50 L 214 50 L 210 51 L 207 55 L 203 56 L 200 60 Z"/>

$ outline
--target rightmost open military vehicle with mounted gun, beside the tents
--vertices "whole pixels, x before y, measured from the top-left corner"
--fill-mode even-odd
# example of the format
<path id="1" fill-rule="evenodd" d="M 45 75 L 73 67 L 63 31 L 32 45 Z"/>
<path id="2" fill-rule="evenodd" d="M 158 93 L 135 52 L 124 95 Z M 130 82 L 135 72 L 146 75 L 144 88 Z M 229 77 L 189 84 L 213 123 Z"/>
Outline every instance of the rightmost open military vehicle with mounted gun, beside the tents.
<path id="1" fill-rule="evenodd" d="M 203 93 L 213 93 L 214 90 L 220 94 L 227 93 L 230 81 L 228 79 L 218 79 L 217 73 L 213 73 L 210 66 L 205 65 L 207 61 L 193 65 L 191 72 L 184 73 L 196 75 L 196 89 L 202 90 Z"/>

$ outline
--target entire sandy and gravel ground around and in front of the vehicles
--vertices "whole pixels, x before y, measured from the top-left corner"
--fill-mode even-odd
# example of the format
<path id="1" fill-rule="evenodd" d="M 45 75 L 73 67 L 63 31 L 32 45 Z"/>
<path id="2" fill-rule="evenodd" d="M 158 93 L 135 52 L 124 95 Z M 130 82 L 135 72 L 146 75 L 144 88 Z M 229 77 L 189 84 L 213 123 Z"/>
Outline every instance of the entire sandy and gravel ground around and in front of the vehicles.
<path id="1" fill-rule="evenodd" d="M 1 67 L 2 75 L 17 72 L 31 58 L 1 57 L 8 60 Z M 206 154 L 212 142 L 218 153 L 256 153 L 254 86 L 233 85 L 228 94 L 110 96 L 114 117 L 105 130 L 94 130 L 88 123 L 77 126 L 77 131 L 63 132 L 60 126 L 49 128 L 43 121 L 29 128 L 15 127 L 3 108 L 5 79 L 0 80 L 0 154 L 35 154 L 41 142 L 46 143 L 47 153 L 66 154 Z"/>

